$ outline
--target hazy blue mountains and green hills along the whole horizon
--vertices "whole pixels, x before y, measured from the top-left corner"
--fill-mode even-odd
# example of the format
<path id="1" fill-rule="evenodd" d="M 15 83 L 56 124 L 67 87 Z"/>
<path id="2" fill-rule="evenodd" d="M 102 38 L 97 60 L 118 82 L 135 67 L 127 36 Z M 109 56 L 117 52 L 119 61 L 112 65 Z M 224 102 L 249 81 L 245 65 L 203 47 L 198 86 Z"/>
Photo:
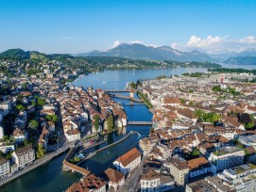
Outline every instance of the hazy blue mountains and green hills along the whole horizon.
<path id="1" fill-rule="evenodd" d="M 0 54 L 0 58 L 8 57 L 26 59 L 52 59 L 56 56 L 73 57 L 73 56 L 112 56 L 125 57 L 131 59 L 145 59 L 145 60 L 169 60 L 169 61 L 197 61 L 197 62 L 224 62 L 235 65 L 256 65 L 256 49 L 250 48 L 243 52 L 227 52 L 218 55 L 208 55 L 199 51 L 182 52 L 173 49 L 170 46 L 152 47 L 145 46 L 139 43 L 121 43 L 118 46 L 111 48 L 108 51 L 100 52 L 93 51 L 84 54 L 75 55 L 45 55 L 36 51 L 27 51 L 21 49 L 11 49 Z"/>

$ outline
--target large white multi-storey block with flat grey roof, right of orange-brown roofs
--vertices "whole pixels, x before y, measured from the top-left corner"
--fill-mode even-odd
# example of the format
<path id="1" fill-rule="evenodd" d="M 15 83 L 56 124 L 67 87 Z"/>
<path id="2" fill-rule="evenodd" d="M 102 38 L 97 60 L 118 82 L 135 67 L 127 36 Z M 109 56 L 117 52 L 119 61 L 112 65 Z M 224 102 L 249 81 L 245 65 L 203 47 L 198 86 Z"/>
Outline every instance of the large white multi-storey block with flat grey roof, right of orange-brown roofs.
<path id="1" fill-rule="evenodd" d="M 213 173 L 224 170 L 225 168 L 232 168 L 244 163 L 244 150 L 237 147 L 226 147 L 220 151 L 212 152 L 208 158 L 212 164 Z"/>

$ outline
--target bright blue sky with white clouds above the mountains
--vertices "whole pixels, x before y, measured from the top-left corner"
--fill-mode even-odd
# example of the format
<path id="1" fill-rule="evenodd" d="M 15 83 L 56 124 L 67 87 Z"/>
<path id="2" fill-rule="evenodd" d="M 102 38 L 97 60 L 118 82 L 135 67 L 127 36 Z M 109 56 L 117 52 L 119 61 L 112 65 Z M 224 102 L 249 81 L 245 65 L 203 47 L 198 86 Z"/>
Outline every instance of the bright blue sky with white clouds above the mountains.
<path id="1" fill-rule="evenodd" d="M 0 0 L 0 52 L 74 54 L 120 42 L 209 54 L 256 48 L 256 0 Z"/>

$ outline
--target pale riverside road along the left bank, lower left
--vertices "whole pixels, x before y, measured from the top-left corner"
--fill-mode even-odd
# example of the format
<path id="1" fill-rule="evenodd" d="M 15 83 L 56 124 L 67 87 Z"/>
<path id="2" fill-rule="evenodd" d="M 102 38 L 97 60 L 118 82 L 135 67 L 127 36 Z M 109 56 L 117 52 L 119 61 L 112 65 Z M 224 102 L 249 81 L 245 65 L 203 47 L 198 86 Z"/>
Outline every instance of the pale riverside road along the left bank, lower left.
<path id="1" fill-rule="evenodd" d="M 10 181 L 26 174 L 27 172 L 33 170 L 34 168 L 43 166 L 43 164 L 47 163 L 52 158 L 60 155 L 60 153 L 66 152 L 70 147 L 74 146 L 74 144 L 75 142 L 65 142 L 57 151 L 47 153 L 42 159 L 35 160 L 31 165 L 26 166 L 25 168 L 19 170 L 18 172 L 13 173 L 9 177 L 5 177 L 3 180 L 0 181 L 0 186 L 9 183 Z"/>

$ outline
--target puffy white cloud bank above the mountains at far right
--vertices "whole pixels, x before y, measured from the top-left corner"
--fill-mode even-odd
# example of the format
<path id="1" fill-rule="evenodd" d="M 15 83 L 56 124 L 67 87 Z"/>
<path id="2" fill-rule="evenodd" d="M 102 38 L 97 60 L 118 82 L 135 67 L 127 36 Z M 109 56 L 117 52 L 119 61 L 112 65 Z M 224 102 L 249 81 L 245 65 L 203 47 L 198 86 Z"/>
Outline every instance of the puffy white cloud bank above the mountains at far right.
<path id="1" fill-rule="evenodd" d="M 208 36 L 207 38 L 200 38 L 191 36 L 185 42 L 173 42 L 171 47 L 182 51 L 199 50 L 209 54 L 218 54 L 227 51 L 244 51 L 247 48 L 256 48 L 256 38 L 254 36 L 247 36 L 239 40 L 230 40 L 229 36 Z"/>

